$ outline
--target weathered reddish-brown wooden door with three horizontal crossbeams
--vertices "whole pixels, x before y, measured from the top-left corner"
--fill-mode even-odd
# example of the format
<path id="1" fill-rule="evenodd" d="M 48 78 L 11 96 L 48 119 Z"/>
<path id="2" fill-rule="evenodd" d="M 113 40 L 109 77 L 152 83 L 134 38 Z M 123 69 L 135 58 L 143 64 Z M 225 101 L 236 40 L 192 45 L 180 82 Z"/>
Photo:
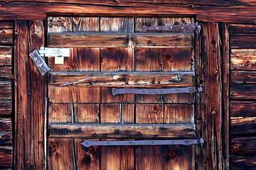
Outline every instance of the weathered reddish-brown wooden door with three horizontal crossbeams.
<path id="1" fill-rule="evenodd" d="M 193 33 L 142 33 L 185 23 L 193 18 L 48 17 L 48 47 L 70 47 L 63 64 L 48 57 L 48 169 L 194 169 L 193 145 L 80 145 L 196 138 L 194 94 L 112 96 L 198 86 Z"/>

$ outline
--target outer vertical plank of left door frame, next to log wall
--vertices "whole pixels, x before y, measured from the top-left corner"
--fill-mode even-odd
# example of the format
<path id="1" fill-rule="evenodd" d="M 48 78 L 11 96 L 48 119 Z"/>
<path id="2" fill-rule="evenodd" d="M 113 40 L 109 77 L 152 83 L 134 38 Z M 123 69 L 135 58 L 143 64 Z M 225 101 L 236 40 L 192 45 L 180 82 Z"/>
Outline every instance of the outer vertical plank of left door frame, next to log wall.
<path id="1" fill-rule="evenodd" d="M 33 120 L 31 120 L 31 81 L 28 64 L 28 21 L 15 21 L 15 169 L 33 169 Z"/>

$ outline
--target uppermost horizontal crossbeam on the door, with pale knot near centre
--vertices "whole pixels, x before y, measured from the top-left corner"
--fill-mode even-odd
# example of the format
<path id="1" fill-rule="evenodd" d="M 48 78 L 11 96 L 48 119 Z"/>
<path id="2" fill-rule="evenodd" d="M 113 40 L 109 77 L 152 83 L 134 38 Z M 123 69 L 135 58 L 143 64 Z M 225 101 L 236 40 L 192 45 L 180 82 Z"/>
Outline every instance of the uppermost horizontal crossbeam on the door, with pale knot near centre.
<path id="1" fill-rule="evenodd" d="M 193 47 L 181 33 L 48 33 L 49 47 Z"/>

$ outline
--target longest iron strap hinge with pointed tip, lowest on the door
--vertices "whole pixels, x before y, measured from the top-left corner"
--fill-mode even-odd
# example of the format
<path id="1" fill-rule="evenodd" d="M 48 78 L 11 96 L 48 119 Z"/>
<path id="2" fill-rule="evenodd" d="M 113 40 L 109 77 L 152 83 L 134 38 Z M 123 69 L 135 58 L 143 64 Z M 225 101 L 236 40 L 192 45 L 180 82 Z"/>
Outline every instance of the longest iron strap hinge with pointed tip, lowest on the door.
<path id="1" fill-rule="evenodd" d="M 85 140 L 80 145 L 90 146 L 134 146 L 134 145 L 195 145 L 203 146 L 203 138 L 198 140 L 114 140 L 114 141 L 92 141 Z"/>

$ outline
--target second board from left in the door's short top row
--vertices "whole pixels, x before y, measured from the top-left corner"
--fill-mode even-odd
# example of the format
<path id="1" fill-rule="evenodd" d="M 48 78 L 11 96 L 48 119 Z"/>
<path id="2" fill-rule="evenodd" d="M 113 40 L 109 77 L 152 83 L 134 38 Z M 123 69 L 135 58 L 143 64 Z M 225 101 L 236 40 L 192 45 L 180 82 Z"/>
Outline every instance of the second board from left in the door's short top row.
<path id="1" fill-rule="evenodd" d="M 72 17 L 73 32 L 99 32 L 100 18 L 99 17 Z"/>

